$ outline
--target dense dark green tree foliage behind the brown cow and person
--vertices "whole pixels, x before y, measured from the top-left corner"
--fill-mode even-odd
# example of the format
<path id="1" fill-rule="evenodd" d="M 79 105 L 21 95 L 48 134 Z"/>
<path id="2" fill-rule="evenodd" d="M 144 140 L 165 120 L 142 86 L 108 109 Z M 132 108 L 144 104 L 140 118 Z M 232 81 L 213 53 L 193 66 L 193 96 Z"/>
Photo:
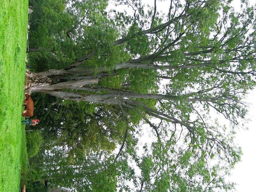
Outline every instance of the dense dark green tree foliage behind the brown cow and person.
<path id="1" fill-rule="evenodd" d="M 34 106 L 36 118 L 40 119 L 38 126 L 44 127 L 43 146 L 47 149 L 65 145 L 69 154 L 74 156 L 91 150 L 112 151 L 116 146 L 115 142 L 121 140 L 124 122 L 120 120 L 119 112 L 115 113 L 111 106 L 63 102 L 42 94 L 34 94 L 33 98 L 44 101 L 35 102 Z M 42 108 L 44 110 L 40 110 Z M 119 121 L 116 122 L 117 119 Z"/>

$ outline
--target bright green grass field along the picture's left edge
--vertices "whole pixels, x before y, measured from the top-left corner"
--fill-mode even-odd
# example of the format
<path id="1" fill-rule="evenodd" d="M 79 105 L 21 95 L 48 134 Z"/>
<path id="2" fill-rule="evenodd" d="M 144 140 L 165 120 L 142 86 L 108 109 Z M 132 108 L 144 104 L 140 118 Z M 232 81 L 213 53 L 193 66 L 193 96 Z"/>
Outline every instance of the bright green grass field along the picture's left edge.
<path id="1" fill-rule="evenodd" d="M 20 121 L 27 20 L 27 0 L 0 0 L 0 192 L 20 191 L 20 172 L 26 169 Z"/>

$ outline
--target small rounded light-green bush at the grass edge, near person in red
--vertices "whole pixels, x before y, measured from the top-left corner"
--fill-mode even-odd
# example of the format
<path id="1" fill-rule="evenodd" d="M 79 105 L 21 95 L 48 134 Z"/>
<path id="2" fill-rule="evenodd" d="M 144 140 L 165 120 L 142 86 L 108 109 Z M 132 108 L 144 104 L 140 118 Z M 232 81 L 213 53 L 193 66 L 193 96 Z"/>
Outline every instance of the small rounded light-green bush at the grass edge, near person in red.
<path id="1" fill-rule="evenodd" d="M 26 135 L 28 157 L 34 157 L 42 144 L 43 138 L 40 130 L 35 130 Z"/>

